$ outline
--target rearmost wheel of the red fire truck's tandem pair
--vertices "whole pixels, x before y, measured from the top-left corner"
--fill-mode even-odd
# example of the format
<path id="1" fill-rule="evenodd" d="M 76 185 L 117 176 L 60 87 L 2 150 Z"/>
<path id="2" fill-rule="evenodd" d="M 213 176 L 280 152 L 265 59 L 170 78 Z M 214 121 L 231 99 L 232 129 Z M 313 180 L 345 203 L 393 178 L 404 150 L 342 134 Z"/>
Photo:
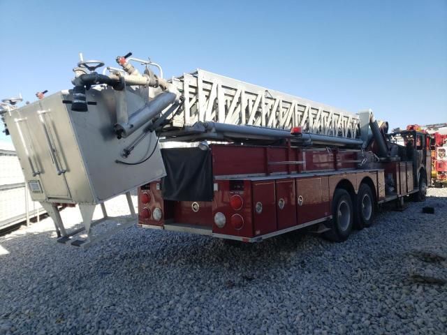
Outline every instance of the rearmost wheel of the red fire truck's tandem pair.
<path id="1" fill-rule="evenodd" d="M 346 241 L 353 226 L 351 195 L 343 188 L 337 188 L 332 198 L 332 221 L 324 237 L 335 242 Z"/>

